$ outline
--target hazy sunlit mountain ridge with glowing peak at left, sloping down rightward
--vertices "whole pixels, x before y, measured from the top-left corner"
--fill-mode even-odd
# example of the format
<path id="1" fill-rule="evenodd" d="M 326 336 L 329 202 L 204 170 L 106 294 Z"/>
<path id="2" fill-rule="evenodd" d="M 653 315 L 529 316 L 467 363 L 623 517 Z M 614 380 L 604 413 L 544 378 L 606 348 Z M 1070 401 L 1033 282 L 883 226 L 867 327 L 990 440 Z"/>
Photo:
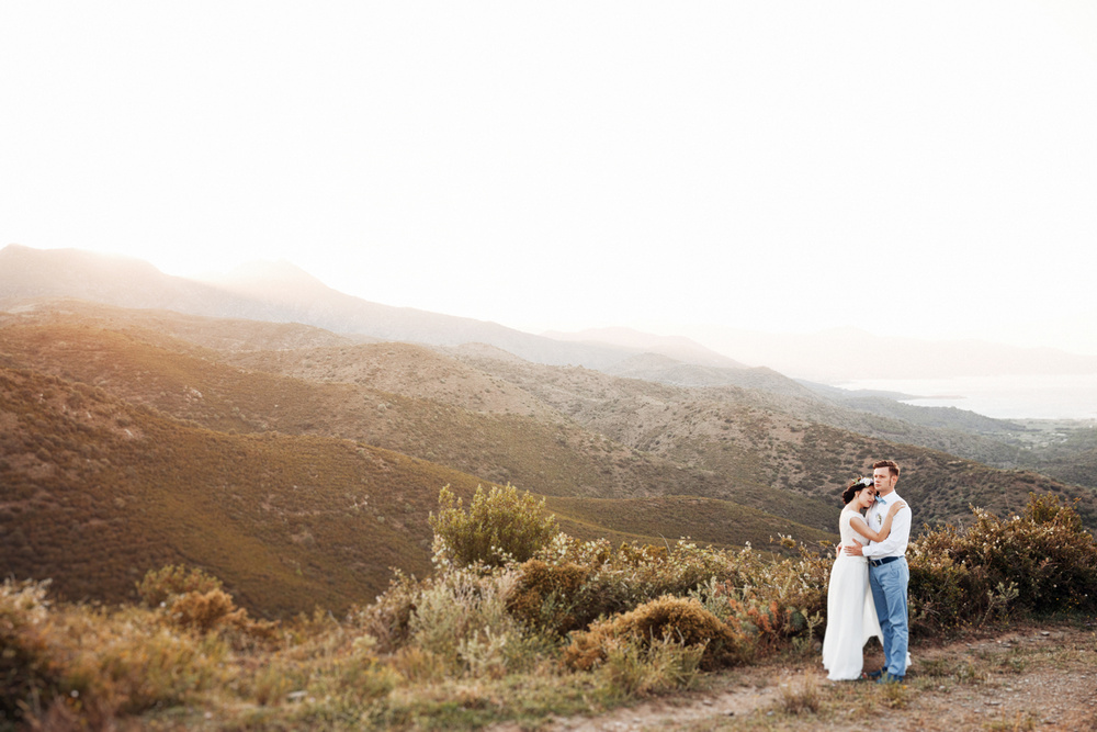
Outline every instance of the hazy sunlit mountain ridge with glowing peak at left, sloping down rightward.
<path id="1" fill-rule="evenodd" d="M 496 323 L 393 307 L 328 288 L 289 262 L 260 263 L 200 282 L 165 274 L 151 264 L 79 249 L 0 249 L 0 303 L 36 297 L 76 297 L 120 307 L 170 309 L 222 318 L 302 323 L 337 334 L 431 346 L 483 342 L 548 365 L 602 369 L 631 358 L 636 348 L 562 341 Z M 706 364 L 736 365 L 688 339 L 657 345 L 657 352 Z"/>

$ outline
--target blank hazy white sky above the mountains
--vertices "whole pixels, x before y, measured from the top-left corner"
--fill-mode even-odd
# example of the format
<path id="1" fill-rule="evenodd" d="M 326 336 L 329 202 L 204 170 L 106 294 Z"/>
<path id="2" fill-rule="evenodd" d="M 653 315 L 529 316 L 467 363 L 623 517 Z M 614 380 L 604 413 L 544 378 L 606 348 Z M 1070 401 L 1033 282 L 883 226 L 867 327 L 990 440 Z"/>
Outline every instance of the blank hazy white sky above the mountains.
<path id="1" fill-rule="evenodd" d="M 1088 0 L 0 3 L 0 246 L 533 331 L 1097 353 L 1095 129 Z"/>

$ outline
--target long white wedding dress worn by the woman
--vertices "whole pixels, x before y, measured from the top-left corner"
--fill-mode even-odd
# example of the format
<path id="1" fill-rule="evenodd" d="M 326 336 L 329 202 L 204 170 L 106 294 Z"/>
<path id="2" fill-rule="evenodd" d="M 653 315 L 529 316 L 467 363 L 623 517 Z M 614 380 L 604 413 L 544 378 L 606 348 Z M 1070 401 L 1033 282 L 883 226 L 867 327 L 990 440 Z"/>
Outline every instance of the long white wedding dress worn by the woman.
<path id="1" fill-rule="evenodd" d="M 849 521 L 860 516 L 844 509 L 838 518 L 842 545 L 869 540 L 853 531 Z M 830 568 L 826 598 L 826 633 L 823 637 L 823 667 L 834 682 L 861 677 L 864 644 L 875 635 L 883 643 L 883 632 L 869 589 L 869 563 L 863 556 L 842 553 Z"/>

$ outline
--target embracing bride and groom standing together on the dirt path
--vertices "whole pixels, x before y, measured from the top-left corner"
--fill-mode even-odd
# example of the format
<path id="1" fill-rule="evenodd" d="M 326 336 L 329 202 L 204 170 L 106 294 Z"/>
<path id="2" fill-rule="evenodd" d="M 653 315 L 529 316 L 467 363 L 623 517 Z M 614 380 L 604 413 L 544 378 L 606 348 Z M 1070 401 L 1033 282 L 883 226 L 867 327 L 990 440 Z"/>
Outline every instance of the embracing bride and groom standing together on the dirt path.
<path id="1" fill-rule="evenodd" d="M 898 464 L 881 460 L 872 465 L 871 480 L 853 481 L 841 494 L 846 506 L 838 519 L 841 543 L 830 570 L 823 638 L 823 667 L 832 680 L 902 683 L 911 663 L 906 608 L 911 508 L 895 493 L 896 483 Z M 884 666 L 862 673 L 864 643 L 873 635 L 884 646 Z"/>

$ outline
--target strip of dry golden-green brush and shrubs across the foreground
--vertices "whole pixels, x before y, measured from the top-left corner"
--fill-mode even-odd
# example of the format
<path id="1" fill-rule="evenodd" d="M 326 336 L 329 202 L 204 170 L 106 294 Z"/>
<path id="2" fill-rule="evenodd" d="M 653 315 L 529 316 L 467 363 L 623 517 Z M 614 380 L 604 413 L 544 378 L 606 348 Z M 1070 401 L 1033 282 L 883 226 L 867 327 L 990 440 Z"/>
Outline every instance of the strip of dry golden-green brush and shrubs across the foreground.
<path id="1" fill-rule="evenodd" d="M 512 489 L 478 495 L 467 514 L 442 498 L 433 575 L 397 575 L 342 618 L 257 620 L 217 578 L 180 566 L 146 575 L 139 606 L 55 604 L 47 583 L 4 584 L 0 728 L 536 729 L 817 654 L 828 548 L 778 561 L 688 540 L 614 548 L 550 536 L 543 504 Z M 493 533 L 506 510 L 513 520 Z M 475 541 L 459 560 L 462 537 Z M 511 551 L 531 538 L 529 558 Z M 975 509 L 907 556 L 915 647 L 1097 610 L 1097 547 L 1052 496 L 1033 495 L 1021 516 Z"/>

